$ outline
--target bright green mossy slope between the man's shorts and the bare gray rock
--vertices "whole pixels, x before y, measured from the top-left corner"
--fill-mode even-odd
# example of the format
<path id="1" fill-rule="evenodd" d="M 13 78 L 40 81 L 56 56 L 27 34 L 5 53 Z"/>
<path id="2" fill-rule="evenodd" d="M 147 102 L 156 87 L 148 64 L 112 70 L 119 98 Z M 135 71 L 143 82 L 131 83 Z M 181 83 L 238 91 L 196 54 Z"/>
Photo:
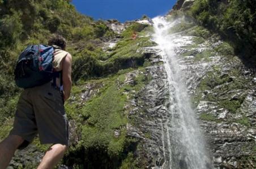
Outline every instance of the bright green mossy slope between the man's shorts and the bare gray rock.
<path id="1" fill-rule="evenodd" d="M 135 163 L 127 163 L 133 160 L 131 156 L 133 151 L 127 149 L 136 140 L 126 136 L 127 114 L 124 107 L 127 97 L 130 97 L 130 91 L 138 92 L 147 81 L 144 74 L 138 74 L 135 77 L 135 84 L 124 84 L 126 73 L 131 71 L 133 69 L 121 70 L 116 75 L 93 79 L 72 88 L 71 97 L 77 99 L 69 100 L 66 103 L 66 113 L 70 120 L 76 121 L 82 139 L 77 145 L 70 147 L 67 157 L 72 157 L 72 154 L 77 157 L 79 154 L 85 156 L 86 158 L 83 160 L 88 160 L 87 167 L 107 165 L 117 168 L 135 165 Z M 139 71 L 144 72 L 144 68 L 139 68 Z M 83 103 L 79 98 L 86 91 L 85 86 L 90 84 L 93 84 L 93 90 L 98 91 L 97 95 L 93 95 L 86 103 Z M 101 155 L 96 157 L 91 156 L 91 153 Z M 97 163 L 99 158 L 109 160 L 99 164 Z M 69 158 L 66 162 L 79 164 L 81 163 L 79 159 L 80 157 L 78 159 Z"/>

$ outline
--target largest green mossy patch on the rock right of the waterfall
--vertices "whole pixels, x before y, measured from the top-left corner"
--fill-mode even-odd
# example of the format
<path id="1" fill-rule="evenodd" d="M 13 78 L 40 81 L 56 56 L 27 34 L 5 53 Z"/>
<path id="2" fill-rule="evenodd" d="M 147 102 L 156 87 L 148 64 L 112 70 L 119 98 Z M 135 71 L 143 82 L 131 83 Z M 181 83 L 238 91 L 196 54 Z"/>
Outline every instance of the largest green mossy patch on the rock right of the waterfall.
<path id="1" fill-rule="evenodd" d="M 208 72 L 200 82 L 193 98 L 195 105 L 199 103 L 199 100 L 202 100 L 202 93 L 208 90 L 212 91 L 212 93 L 206 92 L 205 100 L 216 101 L 221 107 L 229 110 L 231 113 L 236 113 L 245 97 L 240 95 L 239 97 L 232 98 L 232 93 L 228 94 L 227 91 L 239 90 L 244 87 L 245 79 L 238 74 L 240 74 L 240 70 L 232 69 L 229 70 L 229 74 L 221 75 L 219 66 L 215 66 L 214 71 Z M 222 93 L 223 95 L 214 95 L 215 92 Z"/>

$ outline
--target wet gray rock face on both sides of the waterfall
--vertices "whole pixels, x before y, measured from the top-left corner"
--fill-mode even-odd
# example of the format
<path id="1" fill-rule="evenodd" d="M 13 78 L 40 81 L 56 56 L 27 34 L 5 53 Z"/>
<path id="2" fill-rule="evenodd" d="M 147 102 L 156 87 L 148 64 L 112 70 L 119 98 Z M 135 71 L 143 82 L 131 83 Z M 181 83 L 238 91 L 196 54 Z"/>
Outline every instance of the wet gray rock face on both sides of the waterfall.
<path id="1" fill-rule="evenodd" d="M 255 168 L 256 85 L 255 70 L 237 58 L 219 54 L 215 48 L 223 42 L 214 37 L 195 44 L 195 37 L 177 34 L 178 64 L 186 74 L 186 86 L 207 142 L 214 168 Z M 183 39 L 183 40 L 182 40 Z M 152 51 L 155 51 L 151 48 Z M 150 51 L 147 49 L 146 51 Z M 211 51 L 211 52 L 209 52 Z M 152 52 L 153 54 L 154 52 Z M 161 57 L 155 51 L 156 60 Z M 189 55 L 188 55 L 189 54 Z M 197 59 L 200 56 L 202 58 Z M 163 122 L 168 117 L 168 82 L 163 66 L 147 68 L 151 81 L 133 100 L 136 123 L 127 126 L 128 134 L 143 142 L 139 158 L 146 158 L 148 168 L 168 168 Z"/>

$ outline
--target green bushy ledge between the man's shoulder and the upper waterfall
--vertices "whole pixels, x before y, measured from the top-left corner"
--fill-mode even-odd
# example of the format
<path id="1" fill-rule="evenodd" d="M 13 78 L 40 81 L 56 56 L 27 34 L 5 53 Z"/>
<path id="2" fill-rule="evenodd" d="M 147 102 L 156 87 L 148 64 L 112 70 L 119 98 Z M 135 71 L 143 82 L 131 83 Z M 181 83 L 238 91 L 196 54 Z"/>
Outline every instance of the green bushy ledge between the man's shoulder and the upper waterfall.
<path id="1" fill-rule="evenodd" d="M 134 24 L 131 24 L 127 28 L 129 29 L 128 32 L 135 29 L 135 27 Z M 136 27 L 136 30 L 139 30 L 139 28 Z M 135 39 L 130 36 L 121 39 L 114 48 L 109 50 L 108 54 L 93 43 L 87 43 L 84 50 L 74 55 L 74 81 L 104 77 L 117 73 L 121 69 L 142 66 L 147 56 L 143 55 L 142 51 L 138 51 L 138 49 L 155 44 L 150 41 L 150 37 L 139 37 L 140 34 L 144 34 L 144 32 L 138 33 L 138 37 Z"/>

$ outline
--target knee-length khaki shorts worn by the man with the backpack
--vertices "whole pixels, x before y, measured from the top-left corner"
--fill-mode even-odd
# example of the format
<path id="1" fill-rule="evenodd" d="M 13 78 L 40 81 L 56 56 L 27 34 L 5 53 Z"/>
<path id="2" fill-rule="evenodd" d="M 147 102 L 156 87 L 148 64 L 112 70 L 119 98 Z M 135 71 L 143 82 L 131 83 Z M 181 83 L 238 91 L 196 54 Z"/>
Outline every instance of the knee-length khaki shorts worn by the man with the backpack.
<path id="1" fill-rule="evenodd" d="M 10 135 L 25 140 L 25 148 L 39 134 L 41 144 L 68 145 L 68 122 L 61 92 L 51 83 L 25 89 L 20 95 Z"/>

